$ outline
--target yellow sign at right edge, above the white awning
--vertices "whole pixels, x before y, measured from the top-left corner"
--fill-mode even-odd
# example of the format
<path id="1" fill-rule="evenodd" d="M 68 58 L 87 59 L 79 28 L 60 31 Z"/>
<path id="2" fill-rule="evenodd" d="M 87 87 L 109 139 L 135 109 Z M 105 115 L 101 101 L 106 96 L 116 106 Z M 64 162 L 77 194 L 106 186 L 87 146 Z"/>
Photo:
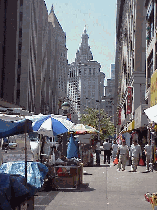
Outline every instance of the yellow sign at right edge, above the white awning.
<path id="1" fill-rule="evenodd" d="M 157 104 L 157 70 L 151 76 L 151 102 L 150 106 Z"/>

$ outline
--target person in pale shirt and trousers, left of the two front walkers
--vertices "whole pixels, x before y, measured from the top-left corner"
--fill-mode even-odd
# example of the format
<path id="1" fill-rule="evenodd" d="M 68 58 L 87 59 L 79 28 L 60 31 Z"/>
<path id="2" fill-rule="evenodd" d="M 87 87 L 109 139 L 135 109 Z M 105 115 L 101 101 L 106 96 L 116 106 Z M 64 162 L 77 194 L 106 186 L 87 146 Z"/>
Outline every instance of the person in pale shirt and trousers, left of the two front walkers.
<path id="1" fill-rule="evenodd" d="M 125 137 L 122 137 L 122 144 L 118 146 L 117 158 L 119 159 L 117 170 L 120 171 L 122 165 L 122 171 L 124 171 L 126 161 L 129 158 L 129 148 L 126 145 Z"/>

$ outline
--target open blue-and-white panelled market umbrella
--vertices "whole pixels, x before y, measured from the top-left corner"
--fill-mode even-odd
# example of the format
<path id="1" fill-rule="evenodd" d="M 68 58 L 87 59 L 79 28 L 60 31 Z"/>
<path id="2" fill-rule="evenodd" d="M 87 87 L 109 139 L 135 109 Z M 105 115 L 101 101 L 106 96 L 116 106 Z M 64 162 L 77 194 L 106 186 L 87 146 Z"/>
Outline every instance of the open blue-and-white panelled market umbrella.
<path id="1" fill-rule="evenodd" d="M 33 123 L 33 131 L 47 136 L 57 136 L 66 133 L 74 126 L 74 123 L 57 115 L 47 115 Z"/>

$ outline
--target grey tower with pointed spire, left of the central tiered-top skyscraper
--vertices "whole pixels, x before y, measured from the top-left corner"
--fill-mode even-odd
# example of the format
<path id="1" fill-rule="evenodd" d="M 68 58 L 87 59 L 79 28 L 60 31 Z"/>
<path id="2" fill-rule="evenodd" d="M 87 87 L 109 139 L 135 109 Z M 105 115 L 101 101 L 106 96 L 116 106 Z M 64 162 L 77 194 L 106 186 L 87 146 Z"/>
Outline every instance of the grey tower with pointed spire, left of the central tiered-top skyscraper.
<path id="1" fill-rule="evenodd" d="M 67 97 L 67 74 L 68 74 L 68 61 L 67 61 L 67 48 L 66 48 L 66 34 L 63 31 L 55 13 L 53 6 L 48 16 L 49 23 L 53 26 L 55 38 L 55 57 L 54 57 L 54 91 L 57 94 L 58 101 L 63 102 Z"/>

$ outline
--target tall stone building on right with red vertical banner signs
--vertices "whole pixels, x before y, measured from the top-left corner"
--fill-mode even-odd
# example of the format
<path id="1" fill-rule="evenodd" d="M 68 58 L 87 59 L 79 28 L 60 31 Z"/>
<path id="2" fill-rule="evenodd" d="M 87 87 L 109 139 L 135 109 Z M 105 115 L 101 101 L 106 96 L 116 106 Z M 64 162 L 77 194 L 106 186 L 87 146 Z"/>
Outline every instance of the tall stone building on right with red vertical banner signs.
<path id="1" fill-rule="evenodd" d="M 143 0 L 117 1 L 114 124 L 118 133 L 142 129 L 147 124 L 143 119 L 147 107 L 145 17 Z"/>

